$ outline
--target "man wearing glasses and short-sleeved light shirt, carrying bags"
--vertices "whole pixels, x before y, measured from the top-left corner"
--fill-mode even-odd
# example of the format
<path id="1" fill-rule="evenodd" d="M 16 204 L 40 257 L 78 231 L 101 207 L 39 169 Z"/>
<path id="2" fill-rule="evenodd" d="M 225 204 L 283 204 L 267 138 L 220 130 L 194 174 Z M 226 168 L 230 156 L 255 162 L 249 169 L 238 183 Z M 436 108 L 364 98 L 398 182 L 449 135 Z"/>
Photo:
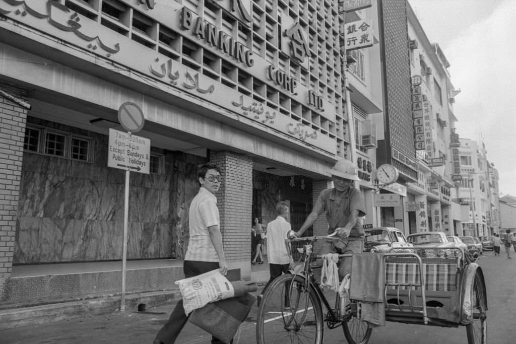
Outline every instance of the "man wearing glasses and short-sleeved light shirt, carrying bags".
<path id="1" fill-rule="evenodd" d="M 190 239 L 183 271 L 185 278 L 215 269 L 220 269 L 220 272 L 225 275 L 228 273 L 228 265 L 222 248 L 219 209 L 215 197 L 222 181 L 220 168 L 214 163 L 205 163 L 198 167 L 197 175 L 201 187 L 190 204 L 188 214 Z M 180 300 L 167 323 L 156 335 L 154 344 L 175 342 L 188 321 L 188 317 L 185 315 L 183 300 Z M 212 343 L 222 343 L 222 341 L 213 337 Z"/>

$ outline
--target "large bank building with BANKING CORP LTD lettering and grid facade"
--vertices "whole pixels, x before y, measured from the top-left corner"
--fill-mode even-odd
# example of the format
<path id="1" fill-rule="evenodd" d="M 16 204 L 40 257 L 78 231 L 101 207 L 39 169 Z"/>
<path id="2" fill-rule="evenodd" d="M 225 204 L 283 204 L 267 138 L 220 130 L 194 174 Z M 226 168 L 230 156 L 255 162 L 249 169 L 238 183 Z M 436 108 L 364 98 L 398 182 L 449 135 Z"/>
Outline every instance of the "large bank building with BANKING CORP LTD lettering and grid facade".
<path id="1" fill-rule="evenodd" d="M 224 249 L 244 278 L 252 219 L 266 224 L 285 200 L 299 227 L 338 159 L 357 162 L 372 204 L 375 135 L 367 117 L 382 110 L 378 53 L 374 45 L 356 50 L 345 81 L 343 30 L 345 20 L 377 30 L 375 6 L 0 0 L 0 13 L 2 300 L 119 289 L 117 271 L 30 281 L 16 271 L 122 258 L 125 170 L 108 166 L 133 154 L 129 143 L 150 147 L 129 160 L 146 173 L 130 174 L 127 259 L 183 258 L 196 167 L 206 161 L 222 169 Z M 375 42 L 368 32 L 360 39 Z M 119 152 L 110 133 L 127 134 L 123 104 L 140 108 L 144 124 Z M 321 218 L 307 234 L 326 228 Z M 144 271 L 128 276 L 127 291 L 182 277 L 181 267 Z"/>

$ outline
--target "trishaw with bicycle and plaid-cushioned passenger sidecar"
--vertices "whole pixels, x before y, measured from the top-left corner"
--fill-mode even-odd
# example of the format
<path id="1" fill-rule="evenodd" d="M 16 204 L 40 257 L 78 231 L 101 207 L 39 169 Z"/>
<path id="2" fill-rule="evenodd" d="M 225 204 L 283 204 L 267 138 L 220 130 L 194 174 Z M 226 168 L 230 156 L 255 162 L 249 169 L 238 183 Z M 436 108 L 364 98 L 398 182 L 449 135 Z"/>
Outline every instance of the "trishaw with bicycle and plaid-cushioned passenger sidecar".
<path id="1" fill-rule="evenodd" d="M 313 276 L 313 261 L 320 258 L 312 250 L 317 240 L 340 239 L 331 235 L 291 239 L 291 242 L 304 243 L 300 259 L 302 269 L 277 277 L 264 291 L 256 323 L 258 344 L 321 344 L 324 342 L 325 322 L 329 329 L 342 326 L 350 344 L 368 342 L 373 326 L 369 320 L 364 320 L 365 309 L 370 312 L 373 305 L 353 299 L 352 290 L 350 298 L 342 299 L 338 293 L 332 292 L 335 302 L 330 305 L 326 296 L 328 292 L 321 290 Z M 482 269 L 469 253 L 452 248 L 338 255 L 351 256 L 377 262 L 367 273 L 378 271 L 382 298 L 376 305 L 381 307 L 380 312 L 384 312 L 385 321 L 465 326 L 469 344 L 487 343 L 486 284 Z M 351 281 L 353 276 L 352 271 Z"/>

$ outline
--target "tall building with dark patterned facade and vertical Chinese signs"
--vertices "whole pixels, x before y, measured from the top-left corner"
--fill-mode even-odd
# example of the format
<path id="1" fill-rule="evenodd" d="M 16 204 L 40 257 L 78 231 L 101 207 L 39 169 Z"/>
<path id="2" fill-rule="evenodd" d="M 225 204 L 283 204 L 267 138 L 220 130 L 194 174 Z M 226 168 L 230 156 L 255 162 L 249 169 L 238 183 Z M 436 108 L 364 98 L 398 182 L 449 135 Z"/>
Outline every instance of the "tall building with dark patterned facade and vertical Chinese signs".
<path id="1" fill-rule="evenodd" d="M 382 206 L 379 221 L 405 234 L 451 234 L 460 223 L 460 207 L 452 209 L 449 143 L 457 92 L 449 63 L 439 45 L 430 43 L 408 2 L 381 2 L 379 8 L 384 116 L 378 122 L 384 136 L 377 159 L 378 165 L 389 163 L 399 172 L 394 187 L 379 193 L 399 202 Z"/>

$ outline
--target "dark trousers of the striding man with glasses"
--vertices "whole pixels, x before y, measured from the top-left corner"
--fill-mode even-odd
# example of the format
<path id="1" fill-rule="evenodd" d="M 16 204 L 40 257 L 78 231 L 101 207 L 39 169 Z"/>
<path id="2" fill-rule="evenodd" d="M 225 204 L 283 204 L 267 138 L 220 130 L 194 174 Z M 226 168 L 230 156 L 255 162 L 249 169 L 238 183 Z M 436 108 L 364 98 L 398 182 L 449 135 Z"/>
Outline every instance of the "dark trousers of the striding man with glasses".
<path id="1" fill-rule="evenodd" d="M 212 271 L 219 268 L 219 263 L 216 261 L 192 261 L 185 260 L 183 264 L 183 271 L 185 278 L 200 275 L 202 273 Z M 181 330 L 185 326 L 190 316 L 185 314 L 183 307 L 183 300 L 180 300 L 170 314 L 167 323 L 163 325 L 156 335 L 156 339 L 162 341 L 164 344 L 172 344 L 178 338 Z M 233 340 L 231 340 L 231 343 Z M 219 339 L 212 337 L 212 344 L 223 343 Z"/>

